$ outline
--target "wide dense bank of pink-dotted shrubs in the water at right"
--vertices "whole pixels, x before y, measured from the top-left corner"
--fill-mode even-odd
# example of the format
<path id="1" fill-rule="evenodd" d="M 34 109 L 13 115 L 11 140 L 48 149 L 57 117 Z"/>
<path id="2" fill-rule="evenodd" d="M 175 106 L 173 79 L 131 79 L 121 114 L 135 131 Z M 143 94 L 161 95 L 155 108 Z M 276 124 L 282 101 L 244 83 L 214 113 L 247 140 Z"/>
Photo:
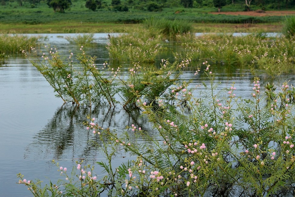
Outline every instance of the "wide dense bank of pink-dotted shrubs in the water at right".
<path id="1" fill-rule="evenodd" d="M 177 40 L 182 41 L 184 49 L 175 53 L 177 59 L 192 57 L 192 61 L 210 61 L 226 68 L 250 65 L 253 72 L 263 70 L 270 77 L 294 72 L 295 42 L 284 36 L 272 38 L 250 34 L 233 37 L 211 34 L 195 37 L 188 34 L 177 36 Z"/>

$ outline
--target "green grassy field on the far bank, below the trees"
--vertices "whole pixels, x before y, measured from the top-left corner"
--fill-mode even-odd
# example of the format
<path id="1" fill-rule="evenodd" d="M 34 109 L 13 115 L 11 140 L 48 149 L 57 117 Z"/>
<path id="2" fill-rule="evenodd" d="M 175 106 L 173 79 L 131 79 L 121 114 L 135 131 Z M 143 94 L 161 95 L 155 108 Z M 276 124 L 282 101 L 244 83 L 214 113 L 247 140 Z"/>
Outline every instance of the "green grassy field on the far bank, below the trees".
<path id="1" fill-rule="evenodd" d="M 208 0 L 209 1 L 209 0 Z M 106 1 L 103 9 L 96 11 L 85 7 L 85 0 L 72 1 L 65 13 L 54 12 L 45 1 L 38 4 L 23 2 L 6 2 L 0 5 L 1 33 L 96 33 L 96 32 L 126 32 L 127 29 L 140 27 L 144 19 L 157 17 L 169 20 L 182 19 L 194 23 L 195 32 L 256 32 L 280 31 L 282 16 L 253 17 L 244 15 L 213 15 L 217 11 L 213 6 L 184 8 L 179 1 L 161 4 L 162 11 L 150 12 L 141 5 L 128 4 L 127 12 L 114 11 L 110 6 L 111 0 Z M 145 1 L 142 1 L 145 2 Z M 161 2 L 161 1 L 160 1 Z M 165 2 L 165 1 L 163 1 Z M 169 5 L 169 6 L 167 6 Z M 260 9 L 258 5 L 251 7 Z M 222 11 L 243 11 L 242 3 L 227 5 Z M 216 23 L 222 23 L 218 25 Z M 252 24 L 239 26 L 237 24 Z M 259 25 L 257 25 L 259 24 Z M 278 28 L 279 26 L 279 28 Z M 238 29 L 237 29 L 238 28 Z"/>

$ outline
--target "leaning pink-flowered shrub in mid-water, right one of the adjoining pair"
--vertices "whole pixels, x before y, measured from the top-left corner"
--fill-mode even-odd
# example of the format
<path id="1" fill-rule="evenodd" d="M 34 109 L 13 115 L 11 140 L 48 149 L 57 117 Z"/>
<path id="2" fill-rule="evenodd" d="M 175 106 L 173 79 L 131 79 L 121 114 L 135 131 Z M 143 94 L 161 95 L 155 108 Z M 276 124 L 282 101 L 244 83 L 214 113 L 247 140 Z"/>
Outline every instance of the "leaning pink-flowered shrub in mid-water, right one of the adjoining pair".
<path id="1" fill-rule="evenodd" d="M 190 59 L 174 62 L 171 64 L 168 60 L 162 59 L 161 67 L 155 70 L 153 67 L 142 68 L 139 64 L 134 64 L 129 68 L 130 75 L 127 80 L 121 80 L 120 93 L 124 102 L 127 104 L 136 104 L 138 99 L 145 99 L 148 104 L 165 93 L 169 86 L 179 81 L 179 76 L 190 63 Z"/>

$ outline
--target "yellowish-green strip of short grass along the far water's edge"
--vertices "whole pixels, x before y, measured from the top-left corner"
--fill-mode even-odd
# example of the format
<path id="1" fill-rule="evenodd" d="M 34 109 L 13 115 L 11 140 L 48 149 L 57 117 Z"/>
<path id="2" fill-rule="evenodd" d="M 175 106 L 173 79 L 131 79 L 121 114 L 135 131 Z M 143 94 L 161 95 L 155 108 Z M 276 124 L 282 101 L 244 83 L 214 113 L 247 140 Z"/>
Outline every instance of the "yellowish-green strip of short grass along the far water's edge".
<path id="1" fill-rule="evenodd" d="M 124 33 L 130 29 L 143 28 L 142 24 L 122 23 L 87 23 L 87 22 L 54 22 L 46 24 L 4 24 L 0 23 L 0 33 Z M 281 32 L 282 24 L 223 24 L 193 23 L 193 32 Z"/>

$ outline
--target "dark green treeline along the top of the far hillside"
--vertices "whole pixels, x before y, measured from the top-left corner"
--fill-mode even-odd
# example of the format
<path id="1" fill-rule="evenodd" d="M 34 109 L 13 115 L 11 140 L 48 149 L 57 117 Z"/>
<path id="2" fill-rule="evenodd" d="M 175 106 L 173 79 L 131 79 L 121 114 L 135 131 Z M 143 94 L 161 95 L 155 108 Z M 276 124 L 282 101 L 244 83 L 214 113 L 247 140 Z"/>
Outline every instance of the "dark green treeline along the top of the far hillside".
<path id="1" fill-rule="evenodd" d="M 64 12 L 70 8 L 72 0 L 0 0 L 1 5 L 8 2 L 17 2 L 19 6 L 24 4 L 36 7 L 41 1 L 45 1 L 54 12 Z M 73 0 L 75 2 L 75 0 Z M 77 1 L 77 0 L 76 0 Z M 281 10 L 295 7 L 295 0 L 85 0 L 85 7 L 89 10 L 105 9 L 110 11 L 162 11 L 163 8 L 183 7 L 183 8 L 203 8 L 209 7 L 230 8 L 232 11 L 250 11 L 252 9 L 261 10 Z"/>

